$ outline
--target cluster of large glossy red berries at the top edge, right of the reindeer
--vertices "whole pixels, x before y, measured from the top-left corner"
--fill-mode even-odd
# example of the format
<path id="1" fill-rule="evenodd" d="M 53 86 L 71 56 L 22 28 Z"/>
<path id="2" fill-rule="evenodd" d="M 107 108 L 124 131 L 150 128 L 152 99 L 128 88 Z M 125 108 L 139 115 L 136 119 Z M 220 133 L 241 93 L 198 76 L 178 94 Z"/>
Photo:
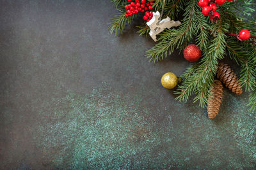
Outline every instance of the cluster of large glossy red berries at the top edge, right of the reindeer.
<path id="1" fill-rule="evenodd" d="M 199 0 L 198 5 L 203 8 L 202 13 L 204 16 L 209 16 L 210 20 L 216 22 L 220 19 L 220 14 L 216 11 L 218 5 L 222 5 L 225 1 L 233 1 L 233 0 Z"/>

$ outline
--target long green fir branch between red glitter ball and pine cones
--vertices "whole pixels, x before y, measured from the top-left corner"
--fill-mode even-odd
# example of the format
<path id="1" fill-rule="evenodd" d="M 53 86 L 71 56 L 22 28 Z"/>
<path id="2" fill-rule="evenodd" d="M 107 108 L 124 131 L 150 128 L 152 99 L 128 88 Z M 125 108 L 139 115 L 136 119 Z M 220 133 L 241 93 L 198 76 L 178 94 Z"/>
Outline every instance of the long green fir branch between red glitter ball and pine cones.
<path id="1" fill-rule="evenodd" d="M 175 94 L 179 94 L 176 98 L 180 102 L 186 102 L 189 96 L 196 94 L 194 101 L 199 101 L 199 105 L 204 107 L 207 104 L 209 89 L 213 83 L 216 70 L 218 68 L 218 60 L 223 59 L 225 55 L 225 25 L 219 24 L 216 31 L 213 32 L 214 38 L 209 43 L 208 48 L 204 51 L 204 56 L 199 63 L 200 66 L 195 69 L 188 78 L 186 73 L 182 74 L 181 78 L 184 78 L 181 85 L 179 85 Z"/>

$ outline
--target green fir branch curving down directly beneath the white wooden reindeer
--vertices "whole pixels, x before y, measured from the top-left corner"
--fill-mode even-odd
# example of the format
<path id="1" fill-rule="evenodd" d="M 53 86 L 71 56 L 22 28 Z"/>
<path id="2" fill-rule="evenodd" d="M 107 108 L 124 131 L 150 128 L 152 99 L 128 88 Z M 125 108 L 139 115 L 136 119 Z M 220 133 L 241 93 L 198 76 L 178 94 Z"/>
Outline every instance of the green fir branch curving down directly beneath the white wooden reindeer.
<path id="1" fill-rule="evenodd" d="M 188 42 L 192 39 L 193 31 L 198 25 L 194 25 L 195 18 L 195 8 L 197 0 L 189 1 L 188 6 L 186 6 L 184 19 L 179 29 L 168 29 L 163 31 L 159 40 L 155 46 L 147 51 L 146 56 L 153 60 L 154 62 L 163 59 L 163 57 L 170 55 L 173 50 L 177 48 L 184 48 Z"/>

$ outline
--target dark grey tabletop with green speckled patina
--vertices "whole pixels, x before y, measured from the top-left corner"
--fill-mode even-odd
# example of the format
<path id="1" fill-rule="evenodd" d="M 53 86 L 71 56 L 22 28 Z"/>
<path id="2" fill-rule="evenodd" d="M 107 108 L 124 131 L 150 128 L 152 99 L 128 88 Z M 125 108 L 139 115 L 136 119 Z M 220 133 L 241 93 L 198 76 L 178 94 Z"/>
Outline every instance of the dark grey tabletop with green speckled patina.
<path id="1" fill-rule="evenodd" d="M 110 34 L 110 1 L 0 8 L 0 169 L 256 168 L 248 94 L 225 89 L 214 120 L 175 101 L 161 76 L 189 62 L 178 53 L 148 62 L 154 41 L 138 23 Z"/>

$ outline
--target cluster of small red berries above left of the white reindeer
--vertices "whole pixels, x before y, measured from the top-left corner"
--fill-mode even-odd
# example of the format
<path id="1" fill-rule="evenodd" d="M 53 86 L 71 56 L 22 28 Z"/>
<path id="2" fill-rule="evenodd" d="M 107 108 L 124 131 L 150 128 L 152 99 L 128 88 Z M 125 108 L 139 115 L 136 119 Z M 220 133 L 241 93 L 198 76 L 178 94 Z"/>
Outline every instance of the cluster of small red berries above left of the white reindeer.
<path id="1" fill-rule="evenodd" d="M 143 20 L 147 20 L 150 21 L 153 17 L 153 11 L 151 11 L 152 5 L 154 4 L 154 1 L 147 1 L 147 0 L 135 0 L 135 2 L 132 2 L 132 0 L 128 0 L 129 2 L 131 2 L 131 4 L 127 4 L 125 5 L 125 17 L 129 17 L 131 15 L 133 15 L 134 13 L 145 13 L 145 15 L 143 16 Z"/>

